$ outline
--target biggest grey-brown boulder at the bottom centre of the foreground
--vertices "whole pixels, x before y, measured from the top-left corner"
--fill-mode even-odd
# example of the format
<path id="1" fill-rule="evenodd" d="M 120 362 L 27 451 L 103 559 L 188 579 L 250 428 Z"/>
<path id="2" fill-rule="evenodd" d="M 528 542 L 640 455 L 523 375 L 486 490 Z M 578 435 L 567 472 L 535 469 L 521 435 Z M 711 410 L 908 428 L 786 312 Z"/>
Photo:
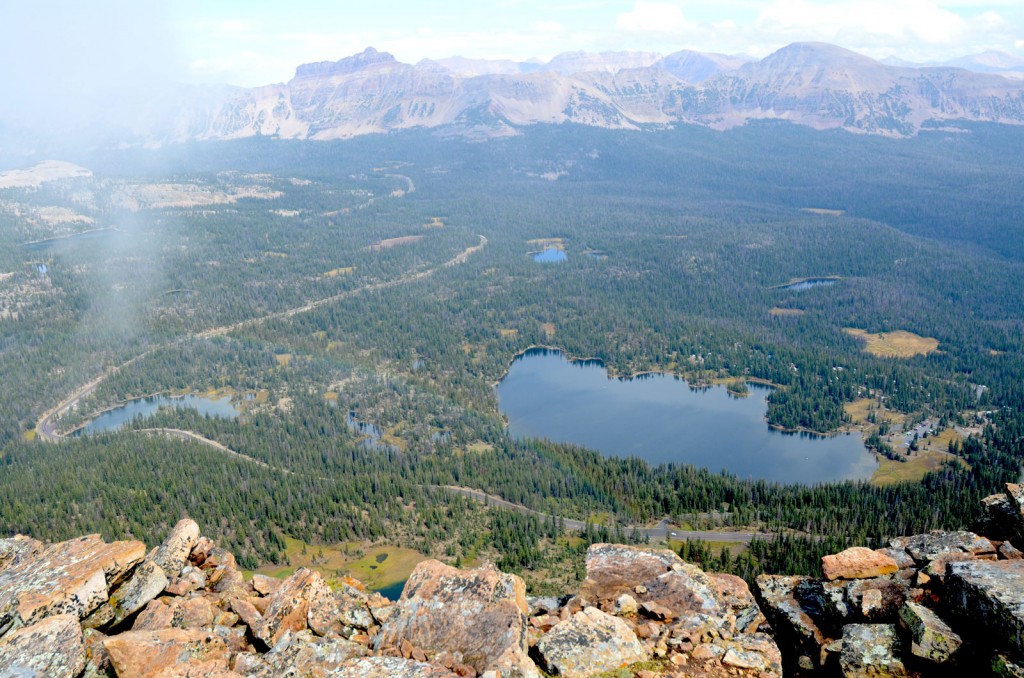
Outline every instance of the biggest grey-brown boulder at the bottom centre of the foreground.
<path id="1" fill-rule="evenodd" d="M 428 653 L 461 653 L 476 671 L 538 676 L 526 655 L 525 586 L 494 565 L 460 570 L 437 560 L 417 565 L 397 610 L 375 639 L 377 649 L 402 642 Z"/>

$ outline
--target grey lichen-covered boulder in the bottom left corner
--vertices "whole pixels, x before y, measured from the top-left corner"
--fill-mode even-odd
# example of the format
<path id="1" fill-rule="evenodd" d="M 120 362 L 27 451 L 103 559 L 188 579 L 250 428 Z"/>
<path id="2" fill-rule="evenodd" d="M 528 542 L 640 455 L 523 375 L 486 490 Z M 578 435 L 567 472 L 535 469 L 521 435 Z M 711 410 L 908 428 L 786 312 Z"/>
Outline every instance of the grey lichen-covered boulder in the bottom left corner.
<path id="1" fill-rule="evenodd" d="M 56 615 L 0 638 L 0 675 L 75 678 L 85 670 L 82 626 Z"/>

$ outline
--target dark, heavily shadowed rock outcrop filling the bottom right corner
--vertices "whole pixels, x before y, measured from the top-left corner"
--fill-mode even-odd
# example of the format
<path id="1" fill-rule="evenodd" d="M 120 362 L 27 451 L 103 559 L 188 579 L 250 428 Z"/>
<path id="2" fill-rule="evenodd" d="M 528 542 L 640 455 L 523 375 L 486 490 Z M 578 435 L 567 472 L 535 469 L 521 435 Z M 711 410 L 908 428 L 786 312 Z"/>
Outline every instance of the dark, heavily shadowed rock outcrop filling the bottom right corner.
<path id="1" fill-rule="evenodd" d="M 989 537 L 899 537 L 825 556 L 823 579 L 759 577 L 758 600 L 787 668 L 1024 676 L 1024 554 L 1014 544 L 1024 536 L 1024 489 L 1008 484 L 983 508 L 977 528 Z"/>

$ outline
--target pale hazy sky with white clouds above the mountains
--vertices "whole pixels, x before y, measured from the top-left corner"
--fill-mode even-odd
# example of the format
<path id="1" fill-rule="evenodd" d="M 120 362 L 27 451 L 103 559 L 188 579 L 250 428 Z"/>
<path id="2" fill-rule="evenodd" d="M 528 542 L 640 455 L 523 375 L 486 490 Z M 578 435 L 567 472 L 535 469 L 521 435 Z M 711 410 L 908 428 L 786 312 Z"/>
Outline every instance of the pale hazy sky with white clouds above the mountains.
<path id="1" fill-rule="evenodd" d="M 398 59 L 570 50 L 764 56 L 818 40 L 914 61 L 1024 55 L 1022 0 L 7 0 L 0 84 L 75 89 L 143 73 L 260 85 L 367 46 Z M 6 82 L 4 82 L 6 81 Z M 33 83 L 36 83 L 35 85 Z"/>

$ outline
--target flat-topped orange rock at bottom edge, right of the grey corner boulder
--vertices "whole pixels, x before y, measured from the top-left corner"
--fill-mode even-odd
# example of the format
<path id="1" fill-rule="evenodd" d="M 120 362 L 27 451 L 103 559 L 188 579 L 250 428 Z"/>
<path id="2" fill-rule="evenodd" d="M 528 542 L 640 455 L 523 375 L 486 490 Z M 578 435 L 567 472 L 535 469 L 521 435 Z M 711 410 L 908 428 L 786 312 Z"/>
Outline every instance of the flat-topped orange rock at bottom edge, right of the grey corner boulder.
<path id="1" fill-rule="evenodd" d="M 103 647 L 118 676 L 201 676 L 229 668 L 227 645 L 210 631 L 126 631 L 104 640 Z"/>

